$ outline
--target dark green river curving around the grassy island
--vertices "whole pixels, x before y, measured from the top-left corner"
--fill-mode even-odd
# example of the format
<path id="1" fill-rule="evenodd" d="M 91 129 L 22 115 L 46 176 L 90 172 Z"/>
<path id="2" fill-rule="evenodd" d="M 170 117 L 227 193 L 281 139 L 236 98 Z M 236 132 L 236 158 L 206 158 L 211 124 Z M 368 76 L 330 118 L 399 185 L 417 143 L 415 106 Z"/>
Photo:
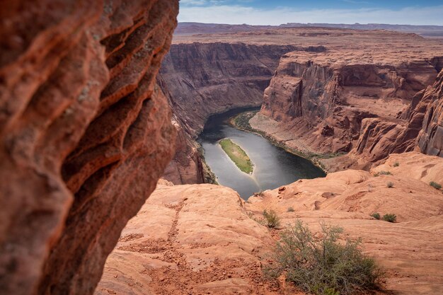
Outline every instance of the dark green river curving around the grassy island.
<path id="1" fill-rule="evenodd" d="M 301 178 L 325 176 L 323 170 L 311 161 L 288 153 L 258 134 L 231 127 L 229 119 L 246 110 L 254 109 L 242 108 L 212 115 L 198 138 L 204 150 L 205 161 L 217 176 L 220 185 L 231 187 L 243 199 L 247 199 L 254 192 L 272 190 Z M 218 143 L 224 138 L 231 139 L 246 151 L 254 163 L 252 175 L 243 173 L 225 154 Z"/>

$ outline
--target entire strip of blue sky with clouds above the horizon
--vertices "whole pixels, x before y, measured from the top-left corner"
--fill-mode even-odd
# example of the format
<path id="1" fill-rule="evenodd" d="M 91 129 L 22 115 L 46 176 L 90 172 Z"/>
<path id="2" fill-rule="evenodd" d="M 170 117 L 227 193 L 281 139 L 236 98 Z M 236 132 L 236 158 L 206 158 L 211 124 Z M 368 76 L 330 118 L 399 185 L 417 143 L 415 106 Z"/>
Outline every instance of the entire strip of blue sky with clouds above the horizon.
<path id="1" fill-rule="evenodd" d="M 443 25 L 443 0 L 180 0 L 178 21 Z"/>

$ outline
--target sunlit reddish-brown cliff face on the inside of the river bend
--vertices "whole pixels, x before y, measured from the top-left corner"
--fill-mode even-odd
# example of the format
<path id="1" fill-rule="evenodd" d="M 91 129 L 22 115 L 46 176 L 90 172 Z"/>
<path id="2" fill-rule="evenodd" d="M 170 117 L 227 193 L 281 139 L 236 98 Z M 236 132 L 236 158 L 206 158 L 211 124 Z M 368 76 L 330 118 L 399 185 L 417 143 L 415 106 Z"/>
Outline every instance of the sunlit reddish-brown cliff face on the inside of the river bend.
<path id="1" fill-rule="evenodd" d="M 436 65 L 426 60 L 357 64 L 357 58 L 353 63 L 331 63 L 328 54 L 285 54 L 260 111 L 317 152 L 350 151 L 363 119 L 395 119 L 408 100 L 437 76 Z M 363 129 L 374 122 L 378 121 L 367 119 Z"/>

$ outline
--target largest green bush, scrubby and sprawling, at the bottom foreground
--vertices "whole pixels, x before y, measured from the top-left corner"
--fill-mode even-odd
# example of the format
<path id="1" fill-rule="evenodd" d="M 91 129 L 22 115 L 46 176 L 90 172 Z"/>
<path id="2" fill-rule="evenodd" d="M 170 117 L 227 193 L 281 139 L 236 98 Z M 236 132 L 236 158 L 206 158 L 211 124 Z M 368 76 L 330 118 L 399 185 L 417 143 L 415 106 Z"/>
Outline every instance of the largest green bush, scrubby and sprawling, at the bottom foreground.
<path id="1" fill-rule="evenodd" d="M 267 273 L 287 280 L 302 291 L 317 295 L 350 295 L 379 289 L 383 272 L 360 249 L 360 241 L 339 243 L 343 229 L 321 224 L 322 234 L 313 235 L 297 221 L 282 233 Z"/>

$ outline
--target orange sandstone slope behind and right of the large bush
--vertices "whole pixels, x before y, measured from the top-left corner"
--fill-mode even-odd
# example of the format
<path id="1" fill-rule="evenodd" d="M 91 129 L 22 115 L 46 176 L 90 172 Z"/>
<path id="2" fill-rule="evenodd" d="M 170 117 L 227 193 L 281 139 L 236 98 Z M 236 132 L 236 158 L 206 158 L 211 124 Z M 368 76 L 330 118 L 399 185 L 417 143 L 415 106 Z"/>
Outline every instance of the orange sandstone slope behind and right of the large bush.
<path id="1" fill-rule="evenodd" d="M 346 238 L 362 238 L 364 251 L 385 267 L 386 289 L 438 294 L 443 289 L 443 195 L 429 183 L 443 183 L 443 158 L 393 154 L 372 173 L 380 171 L 391 175 L 345 170 L 298 180 L 250 197 L 246 208 L 255 216 L 274 209 L 283 225 L 301 219 L 313 231 L 319 231 L 320 221 L 342 226 Z M 396 214 L 398 222 L 376 220 L 370 216 L 374 212 Z"/>

